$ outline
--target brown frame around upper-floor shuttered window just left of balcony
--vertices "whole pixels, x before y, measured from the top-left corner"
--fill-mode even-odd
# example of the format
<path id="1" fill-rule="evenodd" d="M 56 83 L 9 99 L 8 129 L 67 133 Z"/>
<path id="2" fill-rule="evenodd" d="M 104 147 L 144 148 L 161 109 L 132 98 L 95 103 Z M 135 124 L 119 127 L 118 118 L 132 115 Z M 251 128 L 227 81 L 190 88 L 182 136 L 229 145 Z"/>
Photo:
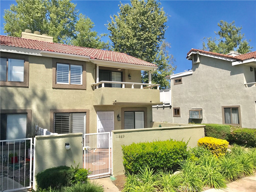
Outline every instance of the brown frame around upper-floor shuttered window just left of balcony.
<path id="1" fill-rule="evenodd" d="M 69 65 L 69 84 L 57 83 L 57 63 Z M 82 84 L 70 84 L 70 65 L 82 66 Z M 86 90 L 86 61 L 68 59 L 52 59 L 52 88 L 85 89 Z"/>

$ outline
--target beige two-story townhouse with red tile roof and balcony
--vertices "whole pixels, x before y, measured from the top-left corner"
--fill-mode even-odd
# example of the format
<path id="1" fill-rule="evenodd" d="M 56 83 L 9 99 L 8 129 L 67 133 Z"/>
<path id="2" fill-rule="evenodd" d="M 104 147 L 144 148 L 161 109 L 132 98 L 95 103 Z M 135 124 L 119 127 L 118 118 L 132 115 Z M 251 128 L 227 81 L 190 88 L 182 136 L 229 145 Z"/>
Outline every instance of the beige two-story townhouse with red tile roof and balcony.
<path id="1" fill-rule="evenodd" d="M 53 133 L 148 128 L 157 66 L 124 53 L 52 42 L 45 34 L 1 36 L 1 140 L 26 138 L 34 124 Z M 150 75 L 151 79 L 151 75 Z M 112 83 L 114 82 L 114 83 Z"/>

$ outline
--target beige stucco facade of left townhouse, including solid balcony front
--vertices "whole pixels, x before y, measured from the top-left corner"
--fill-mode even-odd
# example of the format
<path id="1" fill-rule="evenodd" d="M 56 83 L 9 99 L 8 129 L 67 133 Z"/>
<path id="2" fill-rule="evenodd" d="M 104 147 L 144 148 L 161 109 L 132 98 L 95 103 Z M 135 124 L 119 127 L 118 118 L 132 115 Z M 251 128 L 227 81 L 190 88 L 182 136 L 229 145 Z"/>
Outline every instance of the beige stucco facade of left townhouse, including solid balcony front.
<path id="1" fill-rule="evenodd" d="M 122 70 L 125 75 L 125 81 L 128 81 L 127 73 L 129 72 L 131 73 L 132 79 L 128 82 L 141 82 L 140 70 Z M 90 133 L 95 133 L 97 131 L 97 111 L 114 111 L 115 125 L 118 125 L 116 116 L 117 114 L 121 114 L 120 111 L 122 107 L 146 107 L 148 108 L 148 121 L 152 121 L 152 110 L 149 106 L 115 106 L 113 105 L 113 101 L 159 101 L 159 90 L 122 88 L 99 88 L 93 90 L 91 83 L 95 82 L 94 79 L 95 64 L 86 62 L 86 90 L 52 88 L 52 58 L 29 56 L 29 87 L 1 86 L 0 108 L 31 109 L 32 130 L 34 123 L 36 125 L 39 123 L 41 128 L 50 130 L 51 109 L 89 110 Z M 145 97 L 145 95 L 148 95 L 148 98 Z M 101 104 L 104 106 L 94 106 L 94 101 L 97 100 L 98 102 L 98 100 L 102 100 L 101 98 L 104 100 Z"/>

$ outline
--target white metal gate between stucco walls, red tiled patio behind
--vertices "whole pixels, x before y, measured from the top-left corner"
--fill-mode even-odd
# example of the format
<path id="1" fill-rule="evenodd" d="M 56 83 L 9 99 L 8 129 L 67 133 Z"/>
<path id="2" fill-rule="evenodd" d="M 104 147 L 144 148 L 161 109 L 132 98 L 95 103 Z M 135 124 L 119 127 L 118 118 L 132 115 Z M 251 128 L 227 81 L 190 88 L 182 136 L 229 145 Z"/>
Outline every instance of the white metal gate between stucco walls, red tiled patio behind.
<path id="1" fill-rule="evenodd" d="M 111 175 L 110 132 L 84 134 L 84 168 L 88 178 L 96 179 Z"/>

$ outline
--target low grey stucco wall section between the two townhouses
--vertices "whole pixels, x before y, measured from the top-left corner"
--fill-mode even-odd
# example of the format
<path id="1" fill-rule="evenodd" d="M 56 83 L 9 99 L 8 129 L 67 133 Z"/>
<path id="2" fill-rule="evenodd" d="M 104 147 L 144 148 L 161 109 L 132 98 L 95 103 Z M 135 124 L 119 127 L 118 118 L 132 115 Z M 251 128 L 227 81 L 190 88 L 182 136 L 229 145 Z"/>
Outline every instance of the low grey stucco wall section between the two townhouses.
<path id="1" fill-rule="evenodd" d="M 172 110 L 171 106 L 152 107 L 153 121 L 172 123 Z"/>

